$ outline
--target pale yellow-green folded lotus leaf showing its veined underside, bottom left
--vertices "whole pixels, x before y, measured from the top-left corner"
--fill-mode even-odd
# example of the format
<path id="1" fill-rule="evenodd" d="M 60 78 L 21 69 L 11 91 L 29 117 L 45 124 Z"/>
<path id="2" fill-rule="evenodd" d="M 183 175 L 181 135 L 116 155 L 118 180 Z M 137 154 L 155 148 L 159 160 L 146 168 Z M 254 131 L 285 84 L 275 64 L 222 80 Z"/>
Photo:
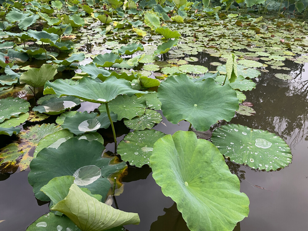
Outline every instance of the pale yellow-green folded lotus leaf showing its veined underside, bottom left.
<path id="1" fill-rule="evenodd" d="M 137 213 L 126 213 L 99 202 L 84 193 L 76 184 L 72 184 L 67 197 L 51 210 L 65 214 L 83 231 L 102 231 L 120 225 L 140 223 Z"/>

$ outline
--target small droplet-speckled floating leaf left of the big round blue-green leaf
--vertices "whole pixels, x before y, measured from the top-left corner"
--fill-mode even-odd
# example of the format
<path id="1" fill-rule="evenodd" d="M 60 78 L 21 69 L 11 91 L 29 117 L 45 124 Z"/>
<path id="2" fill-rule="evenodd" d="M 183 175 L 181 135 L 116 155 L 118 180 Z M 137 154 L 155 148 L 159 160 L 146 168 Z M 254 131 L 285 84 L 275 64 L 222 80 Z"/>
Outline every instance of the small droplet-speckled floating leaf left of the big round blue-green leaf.
<path id="1" fill-rule="evenodd" d="M 124 120 L 126 127 L 133 130 L 151 129 L 155 124 L 159 124 L 163 120 L 159 112 L 147 109 L 145 114 L 140 117 L 135 117 L 132 120 Z"/>

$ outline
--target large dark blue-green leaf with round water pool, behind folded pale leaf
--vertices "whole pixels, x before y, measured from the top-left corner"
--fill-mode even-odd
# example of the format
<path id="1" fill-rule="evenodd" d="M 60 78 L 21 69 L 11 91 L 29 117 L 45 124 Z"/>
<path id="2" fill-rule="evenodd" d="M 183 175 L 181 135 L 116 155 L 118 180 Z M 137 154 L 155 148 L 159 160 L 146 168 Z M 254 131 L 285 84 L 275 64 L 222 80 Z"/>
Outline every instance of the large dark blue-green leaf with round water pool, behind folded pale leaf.
<path id="1" fill-rule="evenodd" d="M 105 198 L 111 187 L 107 177 L 126 168 L 126 164 L 109 164 L 111 159 L 101 157 L 104 149 L 103 144 L 96 140 L 71 138 L 57 149 L 41 150 L 31 161 L 28 175 L 35 197 L 41 201 L 49 201 L 39 190 L 55 177 L 74 176 L 74 182 L 81 188 L 88 188 L 91 193 Z"/>

